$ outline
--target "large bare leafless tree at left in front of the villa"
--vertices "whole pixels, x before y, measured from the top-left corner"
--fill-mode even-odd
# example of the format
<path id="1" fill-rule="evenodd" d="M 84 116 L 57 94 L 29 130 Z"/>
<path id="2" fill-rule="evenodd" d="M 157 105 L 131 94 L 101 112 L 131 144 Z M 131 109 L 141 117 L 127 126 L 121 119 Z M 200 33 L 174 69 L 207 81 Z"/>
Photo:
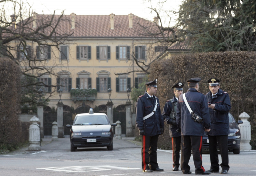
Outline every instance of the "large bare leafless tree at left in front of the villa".
<path id="1" fill-rule="evenodd" d="M 49 97 L 56 92 L 56 85 L 48 85 L 39 78 L 45 74 L 56 76 L 55 67 L 63 67 L 59 62 L 49 67 L 49 57 L 39 57 L 53 49 L 59 50 L 60 45 L 68 43 L 72 31 L 62 31 L 61 25 L 71 23 L 70 19 L 61 15 L 38 15 L 29 3 L 18 0 L 0 1 L 0 56 L 7 56 L 15 61 L 22 70 L 22 105 L 37 104 L 40 87 L 52 87 Z M 9 7 L 11 7 L 11 15 Z M 8 9 L 8 10 L 5 10 Z M 37 47 L 37 51 L 35 51 Z M 48 49 L 45 51 L 45 49 Z M 56 53 L 56 52 L 51 52 Z M 51 55 L 51 61 L 59 56 Z M 43 89 L 45 90 L 45 89 Z M 50 89 L 48 89 L 50 90 Z M 45 100 L 49 98 L 47 97 Z"/>

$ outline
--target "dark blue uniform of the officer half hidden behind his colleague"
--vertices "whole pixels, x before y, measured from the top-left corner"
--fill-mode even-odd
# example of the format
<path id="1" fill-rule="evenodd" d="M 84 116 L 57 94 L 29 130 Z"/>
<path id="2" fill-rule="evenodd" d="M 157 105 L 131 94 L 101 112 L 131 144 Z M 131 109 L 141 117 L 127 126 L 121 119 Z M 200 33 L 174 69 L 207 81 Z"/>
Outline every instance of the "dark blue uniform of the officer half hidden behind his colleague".
<path id="1" fill-rule="evenodd" d="M 171 121 L 176 120 L 176 109 L 177 109 L 176 96 L 173 99 L 168 100 L 163 108 L 163 120 L 165 123 L 170 124 L 169 132 L 171 142 L 173 144 L 173 167 L 179 168 L 179 150 L 181 146 L 181 133 L 177 132 L 177 125 L 172 125 Z"/>

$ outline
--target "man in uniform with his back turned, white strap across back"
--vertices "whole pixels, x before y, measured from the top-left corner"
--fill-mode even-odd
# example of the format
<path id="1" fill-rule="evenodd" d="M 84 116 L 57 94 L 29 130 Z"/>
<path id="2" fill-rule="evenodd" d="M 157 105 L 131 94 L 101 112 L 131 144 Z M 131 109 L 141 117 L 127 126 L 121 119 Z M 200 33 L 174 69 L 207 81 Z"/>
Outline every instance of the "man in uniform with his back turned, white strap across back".
<path id="1" fill-rule="evenodd" d="M 211 123 L 206 98 L 198 91 L 199 81 L 201 81 L 201 78 L 187 80 L 189 90 L 179 96 L 177 105 L 176 121 L 178 127 L 181 128 L 181 170 L 183 174 L 191 174 L 189 166 L 191 148 L 193 151 L 195 174 L 211 173 L 202 166 L 202 137 L 205 135 L 205 131 L 210 131 Z M 203 121 L 198 122 L 191 118 L 192 114 L 184 102 L 184 95 L 191 110 L 203 118 Z"/>

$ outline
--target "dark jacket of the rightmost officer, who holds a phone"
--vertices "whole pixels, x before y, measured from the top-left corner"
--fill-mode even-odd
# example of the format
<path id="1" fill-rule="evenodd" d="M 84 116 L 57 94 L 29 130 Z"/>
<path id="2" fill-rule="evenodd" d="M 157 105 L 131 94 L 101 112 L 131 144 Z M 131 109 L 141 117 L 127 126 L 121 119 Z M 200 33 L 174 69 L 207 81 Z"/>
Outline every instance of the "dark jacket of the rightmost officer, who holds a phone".
<path id="1" fill-rule="evenodd" d="M 212 98 L 211 91 L 209 91 L 205 97 L 208 103 L 215 104 L 214 110 L 208 108 L 211 117 L 211 130 L 207 133 L 207 135 L 228 135 L 229 111 L 231 109 L 229 94 L 219 89 L 214 98 Z"/>

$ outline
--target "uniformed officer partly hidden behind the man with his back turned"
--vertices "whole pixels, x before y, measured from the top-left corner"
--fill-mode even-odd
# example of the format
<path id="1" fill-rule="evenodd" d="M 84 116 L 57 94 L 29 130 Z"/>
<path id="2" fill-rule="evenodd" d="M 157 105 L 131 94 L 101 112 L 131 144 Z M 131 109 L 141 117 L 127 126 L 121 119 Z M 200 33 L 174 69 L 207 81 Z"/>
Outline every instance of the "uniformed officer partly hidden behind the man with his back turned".
<path id="1" fill-rule="evenodd" d="M 178 98 L 183 93 L 182 82 L 177 82 L 173 87 L 175 96 L 173 99 L 168 100 L 163 108 L 163 120 L 165 123 L 170 124 L 170 137 L 173 144 L 173 171 L 179 170 L 179 150 L 181 146 L 181 132 L 176 123 L 176 109 Z"/>

